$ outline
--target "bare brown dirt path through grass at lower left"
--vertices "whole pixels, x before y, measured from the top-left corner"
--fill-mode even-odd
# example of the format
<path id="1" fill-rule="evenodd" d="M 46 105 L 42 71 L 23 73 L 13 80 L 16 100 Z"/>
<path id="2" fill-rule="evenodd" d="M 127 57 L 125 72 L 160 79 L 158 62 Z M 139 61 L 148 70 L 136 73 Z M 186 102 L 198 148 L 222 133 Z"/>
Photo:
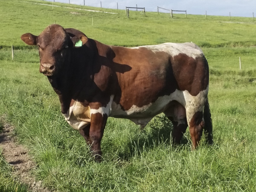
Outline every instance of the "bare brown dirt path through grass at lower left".
<path id="1" fill-rule="evenodd" d="M 6 122 L 3 116 L 0 116 L 0 122 L 3 125 L 3 131 L 0 133 L 0 148 L 2 148 L 3 157 L 13 166 L 14 175 L 17 176 L 20 182 L 28 184 L 32 192 L 50 192 L 42 186 L 42 181 L 36 181 L 31 174 L 36 164 L 29 156 L 28 149 L 15 142 L 14 127 Z"/>

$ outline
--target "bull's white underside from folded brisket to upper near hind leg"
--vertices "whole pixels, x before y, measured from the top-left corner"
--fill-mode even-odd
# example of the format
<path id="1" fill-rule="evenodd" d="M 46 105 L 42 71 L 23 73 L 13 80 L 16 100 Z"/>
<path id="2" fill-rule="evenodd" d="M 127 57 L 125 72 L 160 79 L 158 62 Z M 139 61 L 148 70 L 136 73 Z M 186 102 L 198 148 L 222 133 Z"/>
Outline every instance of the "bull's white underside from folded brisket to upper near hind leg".
<path id="1" fill-rule="evenodd" d="M 191 96 L 188 91 L 175 90 L 169 96 L 161 96 L 155 102 L 142 107 L 133 105 L 127 111 L 122 110 L 120 105 L 113 102 L 113 97 L 106 107 L 92 109 L 85 107 L 81 102 L 75 101 L 66 114 L 63 114 L 67 122 L 76 130 L 80 130 L 90 124 L 92 114 L 101 113 L 108 116 L 130 119 L 137 125 L 144 127 L 157 114 L 162 113 L 168 108 L 168 104 L 177 101 L 186 109 L 186 118 L 190 122 L 192 116 L 197 111 L 203 111 L 204 103 L 207 98 L 208 87 L 201 91 L 197 96 Z"/>

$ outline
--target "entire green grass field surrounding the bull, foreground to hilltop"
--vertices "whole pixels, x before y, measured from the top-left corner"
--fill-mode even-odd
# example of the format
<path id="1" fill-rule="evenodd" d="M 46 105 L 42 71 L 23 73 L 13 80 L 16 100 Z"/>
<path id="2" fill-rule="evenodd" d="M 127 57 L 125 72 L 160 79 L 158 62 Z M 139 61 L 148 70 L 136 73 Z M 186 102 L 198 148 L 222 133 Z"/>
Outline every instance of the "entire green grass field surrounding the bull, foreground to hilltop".
<path id="1" fill-rule="evenodd" d="M 27 0 L 35 3 L 46 1 Z M 53 191 L 255 191 L 256 189 L 256 23 L 247 17 L 174 15 L 108 10 L 118 14 L 0 0 L 0 115 L 37 163 L 33 174 Z M 71 12 L 76 12 L 73 14 Z M 92 25 L 93 18 L 93 25 Z M 214 145 L 191 151 L 170 145 L 172 125 L 157 116 L 144 131 L 129 120 L 109 118 L 102 140 L 104 160 L 95 163 L 84 139 L 60 112 L 57 95 L 39 73 L 36 49 L 20 36 L 49 24 L 80 29 L 105 44 L 137 46 L 192 41 L 209 62 L 209 103 Z M 231 21 L 233 23 L 224 23 Z M 236 23 L 243 22 L 243 23 Z M 11 45 L 15 59 L 11 57 Z M 239 70 L 239 57 L 242 70 Z M 2 128 L 0 124 L 0 128 Z M 0 191 L 26 191 L 0 156 Z"/>

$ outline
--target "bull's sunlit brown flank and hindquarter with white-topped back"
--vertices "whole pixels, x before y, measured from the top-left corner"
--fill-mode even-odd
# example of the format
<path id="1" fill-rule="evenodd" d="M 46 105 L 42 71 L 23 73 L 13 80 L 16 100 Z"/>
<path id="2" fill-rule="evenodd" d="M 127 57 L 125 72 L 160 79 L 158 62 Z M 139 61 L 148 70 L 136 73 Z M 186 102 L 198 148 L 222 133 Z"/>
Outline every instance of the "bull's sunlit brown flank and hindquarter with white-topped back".
<path id="1" fill-rule="evenodd" d="M 120 103 L 125 109 L 148 105 L 160 96 L 175 90 L 199 93 L 208 85 L 208 65 L 201 49 L 195 44 L 165 43 L 134 48 L 112 47 L 114 62 L 126 64 L 131 70 L 117 73 L 122 91 Z M 201 81 L 205 84 L 195 87 Z M 198 82 L 198 83 L 197 83 Z M 128 102 L 131 104 L 128 105 Z"/>

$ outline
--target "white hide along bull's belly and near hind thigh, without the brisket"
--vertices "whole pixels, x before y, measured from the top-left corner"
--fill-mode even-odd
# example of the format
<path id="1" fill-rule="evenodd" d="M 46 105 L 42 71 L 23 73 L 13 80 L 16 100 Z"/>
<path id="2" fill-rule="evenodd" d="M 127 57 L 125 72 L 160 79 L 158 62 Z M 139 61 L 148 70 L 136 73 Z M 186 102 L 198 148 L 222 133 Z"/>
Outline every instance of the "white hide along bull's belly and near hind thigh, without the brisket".
<path id="1" fill-rule="evenodd" d="M 112 110 L 109 116 L 127 118 L 145 127 L 147 123 L 157 114 L 166 111 L 168 104 L 172 101 L 179 102 L 186 109 L 186 119 L 189 123 L 194 114 L 198 111 L 203 111 L 204 103 L 207 99 L 208 87 L 206 90 L 202 90 L 197 96 L 192 96 L 187 90 L 180 91 L 175 90 L 169 96 L 161 96 L 154 103 L 149 103 L 143 107 L 137 107 L 133 105 L 129 110 L 123 111 L 120 105 L 112 103 Z M 184 123 L 180 121 L 179 123 Z"/>

